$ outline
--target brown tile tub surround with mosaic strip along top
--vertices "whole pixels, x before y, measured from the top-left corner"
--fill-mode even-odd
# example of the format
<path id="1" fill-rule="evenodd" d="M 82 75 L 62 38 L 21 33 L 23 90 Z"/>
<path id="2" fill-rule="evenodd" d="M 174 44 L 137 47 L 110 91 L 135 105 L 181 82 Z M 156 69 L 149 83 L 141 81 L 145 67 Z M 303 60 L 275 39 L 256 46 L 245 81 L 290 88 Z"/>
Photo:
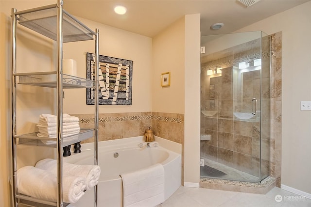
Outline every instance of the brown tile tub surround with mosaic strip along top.
<path id="1" fill-rule="evenodd" d="M 73 114 L 79 117 L 81 128 L 94 126 L 94 115 Z M 184 114 L 161 112 L 125 112 L 99 114 L 99 141 L 137 137 L 149 127 L 154 135 L 181 143 L 184 142 Z M 93 142 L 93 138 L 83 143 Z"/>

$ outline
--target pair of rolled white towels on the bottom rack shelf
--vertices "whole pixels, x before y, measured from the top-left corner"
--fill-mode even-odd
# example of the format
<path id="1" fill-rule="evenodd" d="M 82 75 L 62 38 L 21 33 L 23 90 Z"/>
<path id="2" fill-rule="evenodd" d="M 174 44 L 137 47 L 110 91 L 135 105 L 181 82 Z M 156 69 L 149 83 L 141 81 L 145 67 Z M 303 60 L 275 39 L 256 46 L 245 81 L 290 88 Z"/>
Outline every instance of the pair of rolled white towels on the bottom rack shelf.
<path id="1" fill-rule="evenodd" d="M 17 170 L 18 193 L 46 201 L 57 201 L 57 162 L 42 159 L 33 166 Z M 98 184 L 101 168 L 98 165 L 78 165 L 63 162 L 63 201 L 75 203 Z"/>

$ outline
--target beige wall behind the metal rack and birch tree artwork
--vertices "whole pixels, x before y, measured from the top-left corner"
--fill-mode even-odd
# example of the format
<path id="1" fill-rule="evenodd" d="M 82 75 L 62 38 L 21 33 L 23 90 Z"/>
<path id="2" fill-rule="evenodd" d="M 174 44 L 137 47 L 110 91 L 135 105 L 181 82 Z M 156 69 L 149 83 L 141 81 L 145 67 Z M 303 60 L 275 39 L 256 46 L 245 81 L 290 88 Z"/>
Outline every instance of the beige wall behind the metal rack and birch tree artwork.
<path id="1" fill-rule="evenodd" d="M 10 206 L 9 179 L 11 177 L 11 118 L 10 71 L 11 71 L 11 8 L 18 11 L 55 4 L 55 0 L 1 0 L 0 31 L 0 206 Z M 91 29 L 100 29 L 100 54 L 134 61 L 133 96 L 131 106 L 100 106 L 100 113 L 151 111 L 151 67 L 152 39 L 132 32 L 126 32 L 97 22 L 80 19 Z M 17 72 L 55 70 L 55 42 L 37 35 L 18 25 L 17 30 Z M 77 60 L 78 75 L 86 77 L 86 52 L 94 52 L 94 41 L 64 44 L 64 58 Z M 40 113 L 55 113 L 55 90 L 32 86 L 18 86 L 17 96 L 17 133 L 35 130 Z M 73 100 L 73 101 L 71 101 Z M 93 113 L 94 107 L 86 105 L 86 90 L 66 90 L 64 112 Z M 50 148 L 18 146 L 18 168 L 34 165 L 38 159 L 53 155 Z M 27 156 L 24 156 L 27 154 Z"/>

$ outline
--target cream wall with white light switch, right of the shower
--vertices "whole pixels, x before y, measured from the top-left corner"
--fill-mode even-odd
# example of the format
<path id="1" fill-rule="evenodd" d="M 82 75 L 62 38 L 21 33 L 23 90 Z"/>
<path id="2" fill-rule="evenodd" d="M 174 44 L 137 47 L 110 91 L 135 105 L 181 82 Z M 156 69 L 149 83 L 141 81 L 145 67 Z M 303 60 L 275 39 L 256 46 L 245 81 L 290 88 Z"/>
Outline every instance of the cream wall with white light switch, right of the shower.
<path id="1" fill-rule="evenodd" d="M 311 2 L 263 19 L 236 32 L 282 31 L 282 185 L 311 193 Z"/>

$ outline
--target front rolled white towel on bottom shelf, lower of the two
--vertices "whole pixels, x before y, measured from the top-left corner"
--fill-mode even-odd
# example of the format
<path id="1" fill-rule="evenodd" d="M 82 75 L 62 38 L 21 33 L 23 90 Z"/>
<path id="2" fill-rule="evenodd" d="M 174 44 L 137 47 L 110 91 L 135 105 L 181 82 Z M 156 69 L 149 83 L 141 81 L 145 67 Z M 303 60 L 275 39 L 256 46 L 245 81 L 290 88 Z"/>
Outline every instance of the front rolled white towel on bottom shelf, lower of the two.
<path id="1" fill-rule="evenodd" d="M 83 195 L 86 182 L 83 177 L 63 176 L 63 201 L 75 203 Z M 17 170 L 18 193 L 46 201 L 57 201 L 57 178 L 56 174 L 36 168 L 25 166 Z"/>

